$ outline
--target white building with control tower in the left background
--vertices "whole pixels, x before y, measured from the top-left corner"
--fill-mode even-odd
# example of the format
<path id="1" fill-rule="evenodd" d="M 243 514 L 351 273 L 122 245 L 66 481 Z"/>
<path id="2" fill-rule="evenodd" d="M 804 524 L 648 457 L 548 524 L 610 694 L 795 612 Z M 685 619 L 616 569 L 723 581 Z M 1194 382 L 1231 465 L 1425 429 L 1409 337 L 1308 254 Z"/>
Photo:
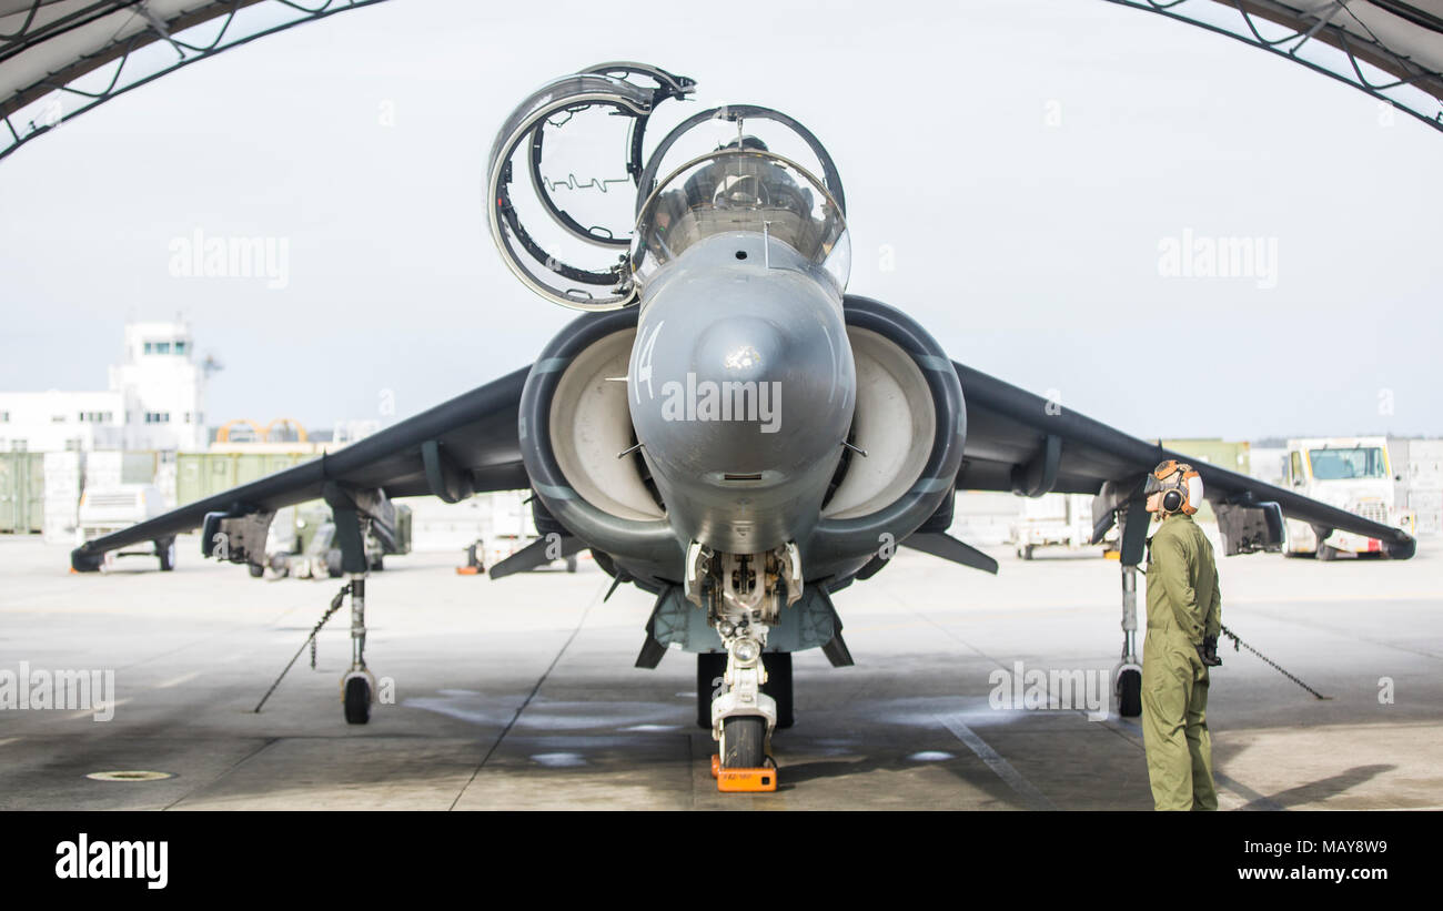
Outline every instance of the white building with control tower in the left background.
<path id="1" fill-rule="evenodd" d="M 127 323 L 107 392 L 0 392 L 0 450 L 203 450 L 203 386 L 186 323 Z"/>

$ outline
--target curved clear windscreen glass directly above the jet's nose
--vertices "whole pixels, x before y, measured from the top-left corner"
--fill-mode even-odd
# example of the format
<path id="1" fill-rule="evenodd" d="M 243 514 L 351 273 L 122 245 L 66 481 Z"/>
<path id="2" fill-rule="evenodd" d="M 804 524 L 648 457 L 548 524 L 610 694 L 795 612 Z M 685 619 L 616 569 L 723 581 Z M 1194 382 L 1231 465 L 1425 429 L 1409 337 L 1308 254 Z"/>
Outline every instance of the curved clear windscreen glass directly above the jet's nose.
<path id="1" fill-rule="evenodd" d="M 736 231 L 791 246 L 846 288 L 851 244 L 837 202 L 804 167 L 745 140 L 683 164 L 646 199 L 631 258 L 638 283 L 697 241 Z"/>

